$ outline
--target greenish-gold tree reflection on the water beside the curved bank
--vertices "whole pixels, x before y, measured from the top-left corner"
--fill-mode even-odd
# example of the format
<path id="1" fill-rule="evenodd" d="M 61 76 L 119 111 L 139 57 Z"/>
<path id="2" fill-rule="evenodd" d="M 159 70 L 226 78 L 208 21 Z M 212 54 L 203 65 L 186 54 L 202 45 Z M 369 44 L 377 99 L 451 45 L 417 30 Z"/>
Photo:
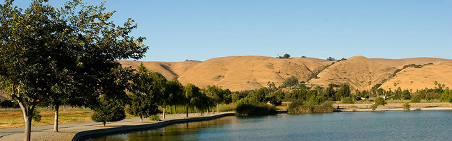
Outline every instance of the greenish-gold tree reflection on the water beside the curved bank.
<path id="1" fill-rule="evenodd" d="M 108 135 L 95 140 L 198 140 L 199 138 L 195 132 L 202 131 L 206 128 L 221 127 L 224 124 L 235 121 L 235 118 L 234 116 L 230 116 L 204 122 L 174 124 L 149 131 Z"/>

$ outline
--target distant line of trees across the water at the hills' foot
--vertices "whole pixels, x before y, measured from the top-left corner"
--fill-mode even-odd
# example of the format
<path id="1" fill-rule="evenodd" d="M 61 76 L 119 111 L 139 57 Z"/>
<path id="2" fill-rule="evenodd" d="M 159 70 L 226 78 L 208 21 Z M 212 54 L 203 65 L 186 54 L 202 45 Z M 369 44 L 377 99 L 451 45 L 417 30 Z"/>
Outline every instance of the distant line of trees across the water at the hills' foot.
<path id="1" fill-rule="evenodd" d="M 401 90 L 401 88 L 394 91 L 387 91 L 379 88 L 380 85 L 376 85 L 371 90 L 355 90 L 355 93 L 352 93 L 350 85 L 348 84 L 336 85 L 330 83 L 327 88 L 321 88 L 320 86 L 307 88 L 303 82 L 298 83 L 298 78 L 292 76 L 286 78 L 286 81 L 278 88 L 275 87 L 274 83 L 268 82 L 268 88 L 233 92 L 232 99 L 234 102 L 241 101 L 241 99 L 249 99 L 252 101 L 271 101 L 271 103 L 277 103 L 274 101 L 300 100 L 318 104 L 324 101 L 355 103 L 355 101 L 360 100 L 357 99 L 357 97 L 363 97 L 365 99 L 373 98 L 373 101 L 375 101 L 379 97 L 386 96 L 389 99 L 411 99 L 411 102 L 419 102 L 421 99 L 437 99 L 439 101 L 451 102 L 451 90 L 441 83 L 435 82 L 435 85 L 437 85 L 435 88 L 426 88 L 423 90 L 416 90 L 415 92 L 412 90 Z M 385 101 L 385 99 L 382 101 Z M 384 105 L 384 103 L 378 103 L 379 105 Z"/>

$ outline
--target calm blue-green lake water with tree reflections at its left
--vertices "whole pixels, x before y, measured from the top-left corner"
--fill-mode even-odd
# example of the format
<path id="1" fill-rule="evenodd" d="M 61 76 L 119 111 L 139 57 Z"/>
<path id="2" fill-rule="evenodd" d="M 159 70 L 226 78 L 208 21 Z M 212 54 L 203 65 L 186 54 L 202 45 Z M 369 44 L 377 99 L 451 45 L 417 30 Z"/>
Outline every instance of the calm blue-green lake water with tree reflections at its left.
<path id="1" fill-rule="evenodd" d="M 452 111 L 223 117 L 90 140 L 452 140 Z"/>

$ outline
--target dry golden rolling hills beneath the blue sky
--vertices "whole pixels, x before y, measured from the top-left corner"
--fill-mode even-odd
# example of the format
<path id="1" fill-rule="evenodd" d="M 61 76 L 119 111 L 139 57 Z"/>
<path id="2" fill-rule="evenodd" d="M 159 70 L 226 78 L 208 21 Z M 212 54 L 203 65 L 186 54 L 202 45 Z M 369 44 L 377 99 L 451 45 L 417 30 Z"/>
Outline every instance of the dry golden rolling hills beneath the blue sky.
<path id="1" fill-rule="evenodd" d="M 124 67 L 134 68 L 140 61 L 120 61 Z M 333 65 L 330 65 L 334 63 Z M 425 65 L 421 68 L 404 65 Z M 175 63 L 143 62 L 145 67 L 160 72 L 168 79 L 177 78 L 182 84 L 193 83 L 200 88 L 207 85 L 220 85 L 223 88 L 235 90 L 250 90 L 266 87 L 274 82 L 281 85 L 284 79 L 296 76 L 299 81 L 307 81 L 309 76 L 321 71 L 307 82 L 307 86 L 327 86 L 329 83 L 340 85 L 348 83 L 351 88 L 369 90 L 376 84 L 389 90 L 434 88 L 434 82 L 452 85 L 452 60 L 440 58 L 407 58 L 382 59 L 355 56 L 340 62 L 317 58 L 271 58 L 265 56 L 230 56 L 213 58 L 203 62 L 184 61 Z M 402 69 L 392 76 L 396 69 Z M 396 83 L 396 86 L 394 86 Z"/>

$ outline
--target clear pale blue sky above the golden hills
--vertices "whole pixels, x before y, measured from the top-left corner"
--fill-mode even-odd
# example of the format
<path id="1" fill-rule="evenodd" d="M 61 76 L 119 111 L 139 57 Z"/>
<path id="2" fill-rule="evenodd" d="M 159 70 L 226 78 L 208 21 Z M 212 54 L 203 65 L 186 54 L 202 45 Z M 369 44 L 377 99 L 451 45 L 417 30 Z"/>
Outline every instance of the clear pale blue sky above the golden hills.
<path id="1" fill-rule="evenodd" d="M 106 7 L 116 10 L 116 24 L 136 20 L 133 35 L 147 38 L 150 46 L 145 61 L 284 53 L 452 59 L 450 0 L 109 0 Z"/>

